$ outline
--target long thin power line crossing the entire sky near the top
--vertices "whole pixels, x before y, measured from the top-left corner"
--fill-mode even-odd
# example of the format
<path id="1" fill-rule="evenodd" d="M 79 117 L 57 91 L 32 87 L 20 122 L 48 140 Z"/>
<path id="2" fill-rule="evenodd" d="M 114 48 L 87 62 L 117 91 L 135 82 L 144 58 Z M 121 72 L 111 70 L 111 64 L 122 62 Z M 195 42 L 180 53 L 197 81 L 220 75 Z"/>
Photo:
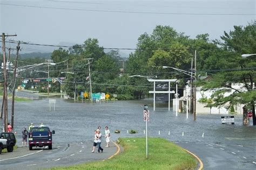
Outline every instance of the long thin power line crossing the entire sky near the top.
<path id="1" fill-rule="evenodd" d="M 50 7 L 50 6 L 34 6 L 34 5 L 18 5 L 18 4 L 5 4 L 1 5 L 9 6 L 22 6 L 31 8 L 44 8 L 44 9 L 60 9 L 60 10 L 72 10 L 72 11 L 90 11 L 90 12 L 114 12 L 114 13 L 142 13 L 142 14 L 159 14 L 159 15 L 224 15 L 224 16 L 251 16 L 255 13 L 176 13 L 176 12 L 140 12 L 140 11 L 122 11 L 122 10 L 94 10 L 94 9 L 75 9 L 75 8 L 60 8 L 60 7 Z"/>

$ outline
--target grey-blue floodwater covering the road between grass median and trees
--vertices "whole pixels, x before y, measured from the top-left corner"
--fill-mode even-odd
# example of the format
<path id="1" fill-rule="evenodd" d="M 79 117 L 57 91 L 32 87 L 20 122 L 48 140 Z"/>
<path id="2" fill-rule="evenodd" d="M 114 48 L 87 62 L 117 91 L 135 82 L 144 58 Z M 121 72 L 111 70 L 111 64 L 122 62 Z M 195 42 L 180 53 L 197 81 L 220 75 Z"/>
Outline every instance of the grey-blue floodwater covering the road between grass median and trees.
<path id="1" fill-rule="evenodd" d="M 53 104 L 49 111 L 48 99 L 16 102 L 14 131 L 17 132 L 18 145 L 21 143 L 23 127 L 28 128 L 30 123 L 43 123 L 55 130 L 53 141 L 58 143 L 93 141 L 94 130 L 99 125 L 102 126 L 103 134 L 104 127 L 109 126 L 112 140 L 119 137 L 144 137 L 143 110 L 144 104 L 149 104 L 149 137 L 162 137 L 179 142 L 256 146 L 256 126 L 243 126 L 242 115 L 234 115 L 234 125 L 221 124 L 220 114 L 198 114 L 197 120 L 193 121 L 192 114 L 189 114 L 188 119 L 184 113 L 178 113 L 176 117 L 176 113 L 168 111 L 168 107 L 157 106 L 156 111 L 153 111 L 152 103 L 152 100 L 146 99 L 85 104 L 56 98 L 55 111 Z M 10 113 L 9 109 L 9 115 Z M 0 125 L 2 127 L 3 120 L 0 120 Z M 114 130 L 121 132 L 115 134 Z M 138 133 L 129 134 L 127 130 L 137 130 Z"/>

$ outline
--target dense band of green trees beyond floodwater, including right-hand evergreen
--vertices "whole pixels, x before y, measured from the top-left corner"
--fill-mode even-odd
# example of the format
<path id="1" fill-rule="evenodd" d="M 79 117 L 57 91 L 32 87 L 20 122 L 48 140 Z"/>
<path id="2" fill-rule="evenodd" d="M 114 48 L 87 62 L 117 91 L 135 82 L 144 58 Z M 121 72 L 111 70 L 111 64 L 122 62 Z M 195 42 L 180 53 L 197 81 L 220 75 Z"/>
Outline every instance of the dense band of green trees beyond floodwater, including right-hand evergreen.
<path id="1" fill-rule="evenodd" d="M 70 96 L 73 96 L 75 88 L 77 92 L 89 92 L 89 65 L 86 58 L 93 58 L 90 60 L 92 92 L 115 93 L 119 99 L 143 98 L 152 90 L 152 84 L 145 78 L 129 78 L 136 74 L 158 79 L 178 78 L 182 88 L 190 76 L 163 69 L 163 66 L 193 72 L 191 60 L 195 50 L 197 76 L 206 73 L 211 76 L 210 81 L 198 81 L 197 84 L 205 90 L 217 89 L 209 107 L 224 104 L 231 107 L 241 103 L 253 109 L 256 99 L 256 57 L 243 59 L 241 55 L 256 53 L 255 21 L 246 26 L 234 26 L 232 31 L 225 31 L 220 39 L 215 40 L 210 40 L 207 33 L 191 38 L 170 26 L 158 25 L 151 35 L 145 32 L 139 36 L 136 50 L 123 61 L 124 68 L 124 58 L 118 50 L 105 52 L 104 47 L 99 46 L 98 40 L 94 38 L 86 39 L 82 45 L 76 44 L 70 49 L 59 48 L 51 54 L 53 62 L 58 64 L 50 67 L 50 77 L 65 77 L 65 80 L 62 86 L 52 84 L 51 91 L 59 92 L 62 88 Z M 21 58 L 20 61 L 19 66 L 45 62 L 44 58 Z M 39 69 L 45 71 L 47 65 L 19 73 L 19 77 L 46 77 L 45 73 L 37 71 Z M 246 90 L 233 89 L 232 83 L 240 83 Z M 235 92 L 225 97 L 224 93 L 232 89 Z"/>

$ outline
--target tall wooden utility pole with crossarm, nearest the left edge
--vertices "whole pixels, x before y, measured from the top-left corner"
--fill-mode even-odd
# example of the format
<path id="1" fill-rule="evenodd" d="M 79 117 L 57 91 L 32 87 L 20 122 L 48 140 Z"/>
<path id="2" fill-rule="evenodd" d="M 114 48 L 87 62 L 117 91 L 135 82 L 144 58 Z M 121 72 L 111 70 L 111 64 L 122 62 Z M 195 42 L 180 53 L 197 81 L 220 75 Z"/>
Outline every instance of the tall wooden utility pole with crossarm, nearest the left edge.
<path id="1" fill-rule="evenodd" d="M 6 35 L 6 37 L 17 35 Z M 2 33 L 2 49 L 3 49 L 3 73 L 4 73 L 4 131 L 7 132 L 8 124 L 8 98 L 7 98 L 7 74 L 6 74 L 6 58 L 5 58 L 5 33 Z"/>

